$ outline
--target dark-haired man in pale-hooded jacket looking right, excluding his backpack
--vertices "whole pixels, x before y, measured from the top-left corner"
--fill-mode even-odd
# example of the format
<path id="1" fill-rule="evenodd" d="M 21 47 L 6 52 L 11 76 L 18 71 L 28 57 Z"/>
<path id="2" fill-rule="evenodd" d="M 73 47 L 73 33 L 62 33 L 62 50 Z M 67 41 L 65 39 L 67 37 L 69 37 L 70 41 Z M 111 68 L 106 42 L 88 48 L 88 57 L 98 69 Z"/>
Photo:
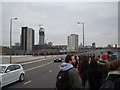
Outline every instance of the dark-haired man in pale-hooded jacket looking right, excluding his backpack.
<path id="1" fill-rule="evenodd" d="M 60 65 L 60 71 L 67 72 L 68 83 L 66 85 L 69 86 L 69 88 L 67 87 L 67 90 L 74 90 L 74 89 L 81 90 L 83 88 L 81 79 L 78 75 L 78 72 L 75 69 L 75 67 L 73 66 L 75 64 L 75 62 L 76 62 L 76 60 L 73 55 L 67 55 L 65 57 L 65 62 L 63 62 Z M 59 76 L 59 73 L 58 73 L 57 77 L 58 76 Z M 64 82 L 62 82 L 62 85 L 64 84 Z M 64 87 L 61 87 L 58 82 L 56 82 L 56 88 L 57 88 L 57 90 L 64 89 Z"/>

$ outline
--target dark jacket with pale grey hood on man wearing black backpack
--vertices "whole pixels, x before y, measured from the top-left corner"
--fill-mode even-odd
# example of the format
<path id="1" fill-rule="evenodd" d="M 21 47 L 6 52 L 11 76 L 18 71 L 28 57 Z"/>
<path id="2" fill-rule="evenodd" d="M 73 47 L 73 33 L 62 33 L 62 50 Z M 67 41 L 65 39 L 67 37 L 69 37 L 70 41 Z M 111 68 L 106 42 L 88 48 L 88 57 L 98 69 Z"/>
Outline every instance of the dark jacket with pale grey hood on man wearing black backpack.
<path id="1" fill-rule="evenodd" d="M 62 71 L 68 70 L 70 90 L 74 90 L 74 89 L 81 90 L 82 89 L 82 83 L 81 83 L 80 77 L 78 75 L 78 72 L 73 67 L 72 64 L 62 63 L 60 66 L 60 70 L 62 70 Z"/>

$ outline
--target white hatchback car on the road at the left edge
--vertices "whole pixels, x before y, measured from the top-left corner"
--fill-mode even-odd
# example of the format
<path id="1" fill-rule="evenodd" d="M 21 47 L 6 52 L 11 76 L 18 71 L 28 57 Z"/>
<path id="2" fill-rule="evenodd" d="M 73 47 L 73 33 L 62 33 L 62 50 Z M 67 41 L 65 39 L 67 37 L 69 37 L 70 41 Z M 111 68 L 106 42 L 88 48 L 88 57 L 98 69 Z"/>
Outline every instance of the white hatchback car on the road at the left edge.
<path id="1" fill-rule="evenodd" d="M 25 72 L 20 64 L 0 64 L 1 87 L 16 81 L 23 81 Z"/>

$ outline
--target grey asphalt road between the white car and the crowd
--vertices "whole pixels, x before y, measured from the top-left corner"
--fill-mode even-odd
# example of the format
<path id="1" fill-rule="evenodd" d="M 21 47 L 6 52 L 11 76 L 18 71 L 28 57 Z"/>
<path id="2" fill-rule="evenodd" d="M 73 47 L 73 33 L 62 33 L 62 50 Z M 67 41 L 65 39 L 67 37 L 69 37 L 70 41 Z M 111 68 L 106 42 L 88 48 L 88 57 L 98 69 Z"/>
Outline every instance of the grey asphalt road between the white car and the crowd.
<path id="1" fill-rule="evenodd" d="M 25 80 L 3 87 L 8 88 L 55 88 L 60 63 L 54 63 L 53 57 L 22 63 Z"/>

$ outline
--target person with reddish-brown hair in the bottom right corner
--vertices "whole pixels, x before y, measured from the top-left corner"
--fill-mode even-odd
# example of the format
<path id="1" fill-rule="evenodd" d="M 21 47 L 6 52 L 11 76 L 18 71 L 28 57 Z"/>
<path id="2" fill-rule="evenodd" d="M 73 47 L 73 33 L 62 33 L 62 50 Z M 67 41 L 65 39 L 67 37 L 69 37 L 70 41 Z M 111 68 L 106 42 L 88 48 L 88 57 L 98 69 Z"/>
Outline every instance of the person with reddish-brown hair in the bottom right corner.
<path id="1" fill-rule="evenodd" d="M 120 60 L 113 60 L 109 63 L 109 73 L 102 84 L 100 90 L 111 88 L 112 90 L 120 89 Z"/>

